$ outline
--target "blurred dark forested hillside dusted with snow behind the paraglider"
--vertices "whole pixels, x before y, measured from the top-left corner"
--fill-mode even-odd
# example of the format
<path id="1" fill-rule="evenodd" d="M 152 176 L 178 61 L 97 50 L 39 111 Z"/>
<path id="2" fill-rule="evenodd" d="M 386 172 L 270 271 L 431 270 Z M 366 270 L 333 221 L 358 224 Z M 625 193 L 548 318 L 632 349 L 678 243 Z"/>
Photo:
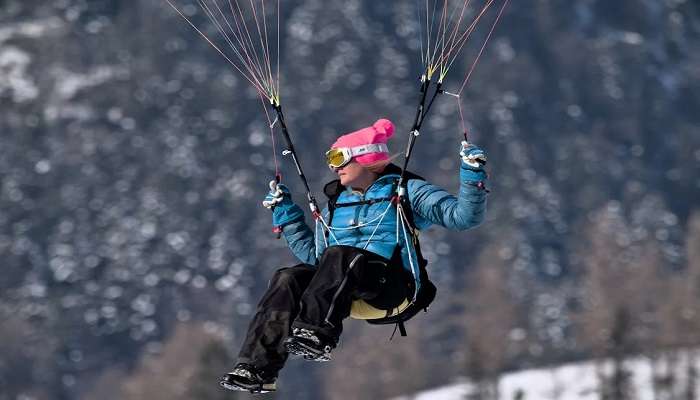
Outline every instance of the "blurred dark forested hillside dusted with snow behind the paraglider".
<path id="1" fill-rule="evenodd" d="M 282 12 L 282 102 L 320 199 L 337 135 L 389 117 L 390 148 L 405 145 L 416 3 Z M 407 338 L 348 323 L 333 362 L 290 361 L 269 398 L 470 376 L 489 399 L 504 371 L 607 358 L 601 399 L 632 399 L 627 355 L 648 358 L 659 398 L 698 398 L 698 49 L 697 1 L 512 2 L 462 96 L 489 155 L 487 221 L 422 235 L 439 293 Z M 248 398 L 218 378 L 272 272 L 295 263 L 260 206 L 266 125 L 164 1 L 0 1 L 1 400 Z M 460 138 L 442 96 L 411 169 L 455 191 Z"/>

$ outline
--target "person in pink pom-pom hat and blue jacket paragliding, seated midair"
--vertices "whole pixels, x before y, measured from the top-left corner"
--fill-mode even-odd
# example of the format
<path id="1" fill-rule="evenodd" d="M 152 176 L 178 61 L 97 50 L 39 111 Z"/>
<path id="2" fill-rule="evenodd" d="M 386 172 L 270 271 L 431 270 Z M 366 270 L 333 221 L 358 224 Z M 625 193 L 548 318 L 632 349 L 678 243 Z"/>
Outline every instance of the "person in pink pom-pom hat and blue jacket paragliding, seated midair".
<path id="1" fill-rule="evenodd" d="M 411 228 L 417 230 L 433 224 L 466 230 L 484 220 L 486 156 L 467 142 L 459 148 L 459 194 L 451 195 L 410 174 L 405 179 L 410 210 L 401 212 L 395 205 L 401 168 L 390 162 L 387 148 L 393 133 L 391 121 L 380 119 L 333 144 L 326 159 L 339 180 L 326 185 L 330 200 L 321 215 L 327 226 L 317 225 L 316 232 L 304 221 L 289 190 L 270 183 L 263 205 L 272 210 L 274 226 L 302 263 L 273 275 L 250 322 L 238 363 L 222 378 L 222 386 L 274 391 L 289 354 L 330 360 L 345 318 L 407 312 L 421 285 L 417 265 L 421 257 L 414 237 L 410 229 L 399 228 L 407 214 L 413 220 Z"/>

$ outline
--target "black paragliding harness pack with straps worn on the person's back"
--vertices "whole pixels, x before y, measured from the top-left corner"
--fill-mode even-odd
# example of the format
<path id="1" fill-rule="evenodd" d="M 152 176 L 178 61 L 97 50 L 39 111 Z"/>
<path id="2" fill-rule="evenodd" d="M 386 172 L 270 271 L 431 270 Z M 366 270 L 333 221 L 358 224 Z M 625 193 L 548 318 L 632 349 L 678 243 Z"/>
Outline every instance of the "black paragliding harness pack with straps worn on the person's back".
<path id="1" fill-rule="evenodd" d="M 389 164 L 384 171 L 380 174 L 380 176 L 384 175 L 390 175 L 390 174 L 396 174 L 400 175 L 401 174 L 401 168 L 394 164 Z M 425 180 L 422 177 L 406 171 L 404 174 L 404 183 L 403 186 L 404 188 L 407 187 L 408 181 L 412 179 L 420 179 L 420 180 Z M 398 179 L 397 182 L 394 183 L 395 185 L 398 185 Z M 326 184 L 326 186 L 323 188 L 323 192 L 325 195 L 328 197 L 328 222 L 327 224 L 330 226 L 331 222 L 333 221 L 333 213 L 336 208 L 339 207 L 350 207 L 350 206 L 357 206 L 357 205 L 363 205 L 363 204 L 374 204 L 378 202 L 383 202 L 383 201 L 392 201 L 394 200 L 394 197 L 385 197 L 385 198 L 380 198 L 380 199 L 371 199 L 371 200 L 364 200 L 364 201 L 355 201 L 351 203 L 341 203 L 338 204 L 338 197 L 340 194 L 345 190 L 345 187 L 340 184 L 340 180 L 336 179 L 334 181 L 329 182 Z M 396 190 L 392 190 L 392 193 L 395 193 Z M 418 258 L 418 270 L 419 270 L 419 281 L 420 281 L 420 287 L 418 289 L 418 293 L 416 295 L 416 300 L 412 302 L 408 308 L 403 310 L 402 312 L 395 314 L 395 315 L 390 315 L 384 318 L 378 318 L 378 319 L 368 319 L 366 320 L 370 324 L 375 324 L 375 325 L 388 325 L 388 324 L 396 324 L 397 329 L 399 329 L 399 332 L 401 333 L 401 336 L 406 336 L 406 327 L 404 326 L 404 322 L 408 321 L 409 319 L 413 318 L 420 310 L 424 310 L 425 312 L 428 311 L 428 306 L 432 301 L 435 299 L 435 295 L 437 294 L 437 288 L 435 285 L 430 281 L 428 277 L 428 271 L 426 269 L 426 266 L 428 265 L 428 261 L 423 257 L 423 254 L 420 249 L 420 242 L 418 241 L 418 235 L 417 235 L 417 229 L 415 225 L 415 219 L 413 215 L 413 210 L 411 209 L 411 205 L 408 199 L 408 190 L 405 191 L 406 195 L 402 198 L 402 205 L 403 205 L 403 210 L 406 215 L 406 220 L 408 221 L 408 225 L 410 228 L 411 232 L 411 237 L 413 240 L 413 247 L 416 251 L 416 256 Z M 326 232 L 326 235 L 328 233 Z M 396 245 L 396 249 L 394 249 L 394 255 L 392 256 L 392 264 L 396 264 L 396 261 L 398 259 L 398 262 L 401 263 L 401 257 L 400 257 L 400 250 L 399 245 Z M 401 265 L 401 268 L 403 266 Z M 415 290 L 415 282 L 411 281 L 411 289 Z M 372 301 L 369 300 L 367 301 L 370 305 L 372 304 Z M 378 308 L 382 308 L 381 306 Z M 396 332 L 396 330 L 394 330 Z M 392 335 L 393 337 L 393 335 Z"/>

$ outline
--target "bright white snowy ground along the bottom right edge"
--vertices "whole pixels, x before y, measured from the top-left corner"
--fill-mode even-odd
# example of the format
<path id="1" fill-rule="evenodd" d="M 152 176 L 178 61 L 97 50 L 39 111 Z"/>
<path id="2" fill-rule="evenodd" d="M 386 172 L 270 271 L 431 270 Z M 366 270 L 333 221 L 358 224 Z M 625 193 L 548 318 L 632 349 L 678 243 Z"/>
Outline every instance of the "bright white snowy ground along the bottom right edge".
<path id="1" fill-rule="evenodd" d="M 650 365 L 648 359 L 642 358 L 626 362 L 632 373 L 631 398 L 653 400 Z M 610 365 L 603 368 L 610 368 Z M 505 374 L 500 382 L 499 400 L 598 400 L 597 372 L 594 363 L 582 362 Z M 471 383 L 463 381 L 394 400 L 465 400 L 472 387 Z"/>

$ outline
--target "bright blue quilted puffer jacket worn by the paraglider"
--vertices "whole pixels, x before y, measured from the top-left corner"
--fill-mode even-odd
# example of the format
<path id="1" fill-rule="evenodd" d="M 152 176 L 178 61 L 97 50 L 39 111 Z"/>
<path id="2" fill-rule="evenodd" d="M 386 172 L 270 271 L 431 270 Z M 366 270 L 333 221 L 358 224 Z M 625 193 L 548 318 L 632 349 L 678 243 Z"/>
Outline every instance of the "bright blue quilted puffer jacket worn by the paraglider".
<path id="1" fill-rule="evenodd" d="M 478 185 L 479 182 L 470 180 L 473 179 L 473 173 L 464 169 L 460 171 L 457 197 L 422 179 L 408 181 L 408 199 L 419 230 L 433 224 L 453 230 L 466 230 L 484 220 L 486 190 L 483 185 Z M 345 190 L 338 197 L 337 204 L 390 197 L 398 178 L 399 175 L 395 174 L 380 176 L 364 193 Z M 321 214 L 328 221 L 328 207 Z M 333 245 L 359 247 L 390 259 L 398 243 L 404 268 L 418 276 L 415 250 L 411 241 L 406 240 L 406 235 L 410 238 L 410 233 L 401 224 L 397 225 L 396 206 L 390 201 L 337 207 L 328 238 L 321 224 L 316 224 L 315 231 L 309 228 L 303 218 L 282 229 L 294 255 L 306 264 L 316 265 L 326 247 Z"/>

